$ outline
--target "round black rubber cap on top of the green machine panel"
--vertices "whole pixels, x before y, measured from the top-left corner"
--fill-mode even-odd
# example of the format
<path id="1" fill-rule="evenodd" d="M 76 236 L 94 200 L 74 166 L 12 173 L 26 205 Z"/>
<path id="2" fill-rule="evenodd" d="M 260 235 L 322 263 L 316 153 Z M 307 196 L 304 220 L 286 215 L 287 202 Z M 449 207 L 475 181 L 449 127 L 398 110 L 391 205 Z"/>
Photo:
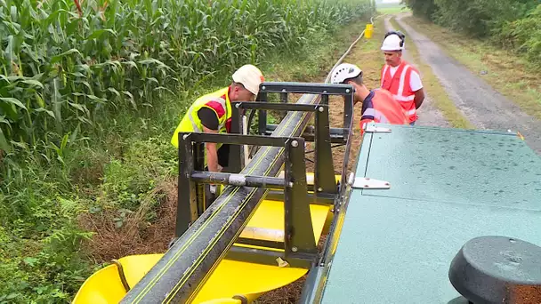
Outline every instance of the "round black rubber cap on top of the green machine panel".
<path id="1" fill-rule="evenodd" d="M 513 299 L 524 297 L 537 303 L 541 247 L 512 237 L 476 237 L 456 253 L 448 276 L 456 291 L 475 304 L 516 303 Z"/>

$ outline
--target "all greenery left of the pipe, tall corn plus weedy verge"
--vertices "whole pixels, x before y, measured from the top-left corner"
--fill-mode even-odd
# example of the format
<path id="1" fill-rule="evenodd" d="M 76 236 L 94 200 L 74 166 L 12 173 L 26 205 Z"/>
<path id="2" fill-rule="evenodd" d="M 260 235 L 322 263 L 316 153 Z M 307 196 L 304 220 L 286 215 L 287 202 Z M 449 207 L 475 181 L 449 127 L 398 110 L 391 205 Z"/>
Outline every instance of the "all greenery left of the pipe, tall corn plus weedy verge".
<path id="1" fill-rule="evenodd" d="M 0 302 L 67 302 L 103 263 L 163 252 L 169 140 L 245 63 L 324 78 L 374 11 L 340 0 L 0 0 Z"/>

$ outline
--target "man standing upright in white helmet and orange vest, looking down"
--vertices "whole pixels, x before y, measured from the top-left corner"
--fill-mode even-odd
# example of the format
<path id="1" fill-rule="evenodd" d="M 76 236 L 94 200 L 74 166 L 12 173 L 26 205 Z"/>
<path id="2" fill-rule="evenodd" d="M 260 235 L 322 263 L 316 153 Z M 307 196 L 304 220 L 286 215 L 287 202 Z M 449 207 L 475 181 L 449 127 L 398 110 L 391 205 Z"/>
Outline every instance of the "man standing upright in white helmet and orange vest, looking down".
<path id="1" fill-rule="evenodd" d="M 416 110 L 423 104 L 424 89 L 419 71 L 406 60 L 402 60 L 405 38 L 400 31 L 385 34 L 381 47 L 385 54 L 381 87 L 392 93 L 406 111 L 409 124 L 414 125 L 417 120 Z"/>

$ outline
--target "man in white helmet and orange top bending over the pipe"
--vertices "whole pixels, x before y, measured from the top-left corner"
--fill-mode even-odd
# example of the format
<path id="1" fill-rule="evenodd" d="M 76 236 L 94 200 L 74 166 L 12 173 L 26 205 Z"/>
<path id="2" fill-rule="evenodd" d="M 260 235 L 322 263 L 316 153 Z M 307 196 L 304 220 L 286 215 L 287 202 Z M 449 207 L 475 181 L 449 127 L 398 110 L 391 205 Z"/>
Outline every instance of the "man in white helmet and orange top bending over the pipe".
<path id="1" fill-rule="evenodd" d="M 351 84 L 354 89 L 353 104 L 362 103 L 359 126 L 361 133 L 365 124 L 408 124 L 408 116 L 392 93 L 384 89 L 368 90 L 362 81 L 362 70 L 350 63 L 340 64 L 331 74 L 332 84 Z"/>

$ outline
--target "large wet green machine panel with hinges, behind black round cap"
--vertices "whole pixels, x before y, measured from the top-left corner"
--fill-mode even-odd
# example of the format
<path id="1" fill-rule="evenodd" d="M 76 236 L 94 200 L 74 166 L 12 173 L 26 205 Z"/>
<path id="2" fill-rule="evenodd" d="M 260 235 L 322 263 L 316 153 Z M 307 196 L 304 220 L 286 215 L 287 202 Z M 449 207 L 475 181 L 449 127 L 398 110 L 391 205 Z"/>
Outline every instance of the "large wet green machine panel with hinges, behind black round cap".
<path id="1" fill-rule="evenodd" d="M 541 246 L 541 158 L 514 134 L 378 125 L 367 133 L 323 303 L 464 303 L 448 279 L 477 236 Z M 467 301 L 465 302 L 467 303 Z"/>

